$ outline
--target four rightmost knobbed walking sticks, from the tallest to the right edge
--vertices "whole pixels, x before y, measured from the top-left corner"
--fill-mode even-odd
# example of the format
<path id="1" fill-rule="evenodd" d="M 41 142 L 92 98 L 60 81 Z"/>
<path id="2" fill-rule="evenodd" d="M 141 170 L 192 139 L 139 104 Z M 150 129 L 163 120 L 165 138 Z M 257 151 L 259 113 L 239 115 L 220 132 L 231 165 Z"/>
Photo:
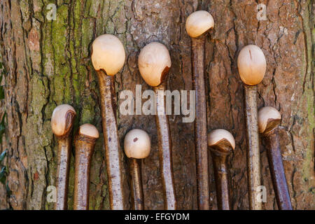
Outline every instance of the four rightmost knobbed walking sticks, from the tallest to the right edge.
<path id="1" fill-rule="evenodd" d="M 197 165 L 198 209 L 209 209 L 209 174 L 207 141 L 211 151 L 216 179 L 218 209 L 231 209 L 230 181 L 227 156 L 235 148 L 235 139 L 226 130 L 214 130 L 207 137 L 207 111 L 204 87 L 204 43 L 207 32 L 214 27 L 214 18 L 207 11 L 192 13 L 186 20 L 186 31 L 191 37 L 193 87 L 196 91 L 195 152 Z M 262 209 L 260 193 L 259 132 L 267 144 L 272 183 L 279 209 L 292 209 L 284 174 L 277 126 L 281 115 L 276 109 L 266 106 L 257 108 L 257 87 L 265 76 L 266 59 L 257 45 L 246 45 L 237 58 L 239 76 L 244 83 L 246 116 L 246 159 L 248 196 L 250 209 Z"/>

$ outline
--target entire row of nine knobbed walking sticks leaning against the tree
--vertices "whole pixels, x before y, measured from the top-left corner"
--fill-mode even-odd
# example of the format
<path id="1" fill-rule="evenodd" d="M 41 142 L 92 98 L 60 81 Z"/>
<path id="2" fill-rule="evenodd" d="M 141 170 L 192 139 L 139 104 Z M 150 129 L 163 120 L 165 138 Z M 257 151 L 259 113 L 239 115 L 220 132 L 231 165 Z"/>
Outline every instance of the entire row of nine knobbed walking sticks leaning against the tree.
<path id="1" fill-rule="evenodd" d="M 226 130 L 213 130 L 207 135 L 207 111 L 204 85 L 204 44 L 207 32 L 214 27 L 214 19 L 207 11 L 192 13 L 186 20 L 186 31 L 191 37 L 193 87 L 196 92 L 195 153 L 197 172 L 198 209 L 209 209 L 208 148 L 213 158 L 218 209 L 231 209 L 230 180 L 227 157 L 235 149 L 235 139 Z M 92 43 L 92 64 L 99 79 L 102 127 L 109 179 L 111 209 L 125 209 L 123 176 L 120 164 L 120 144 L 116 121 L 116 91 L 114 75 L 125 63 L 125 49 L 120 40 L 111 34 L 98 36 Z M 158 131 L 158 150 L 165 209 L 176 209 L 176 195 L 172 167 L 172 138 L 165 113 L 165 99 L 159 92 L 166 90 L 166 77 L 171 67 L 169 51 L 162 43 L 153 42 L 141 49 L 139 71 L 156 94 L 155 123 Z M 262 209 L 257 190 L 260 186 L 260 151 L 258 130 L 266 142 L 270 172 L 279 209 L 292 209 L 283 171 L 277 126 L 281 115 L 266 106 L 258 113 L 256 85 L 265 76 L 266 60 L 256 45 L 247 45 L 237 59 L 239 75 L 244 82 L 247 174 L 250 209 Z M 71 154 L 71 130 L 76 116 L 72 106 L 62 104 L 52 113 L 52 132 L 58 141 L 57 203 L 55 209 L 66 209 Z M 258 129 L 259 127 L 259 129 Z M 88 209 L 90 185 L 90 161 L 99 133 L 90 124 L 81 125 L 75 137 L 76 162 L 74 209 Z M 133 209 L 144 209 L 144 193 L 141 184 L 141 159 L 151 151 L 150 137 L 143 130 L 134 129 L 125 136 L 125 154 L 130 158 L 132 174 Z"/>

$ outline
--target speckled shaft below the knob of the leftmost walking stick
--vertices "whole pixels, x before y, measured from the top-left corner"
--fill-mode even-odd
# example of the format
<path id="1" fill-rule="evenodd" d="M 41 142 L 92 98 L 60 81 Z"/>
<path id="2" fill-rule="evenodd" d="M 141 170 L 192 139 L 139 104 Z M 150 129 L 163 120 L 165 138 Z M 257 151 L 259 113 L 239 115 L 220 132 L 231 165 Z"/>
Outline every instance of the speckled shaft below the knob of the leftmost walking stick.
<path id="1" fill-rule="evenodd" d="M 55 210 L 67 209 L 69 165 L 71 155 L 71 137 L 57 137 L 58 162 L 57 162 L 57 202 Z"/>

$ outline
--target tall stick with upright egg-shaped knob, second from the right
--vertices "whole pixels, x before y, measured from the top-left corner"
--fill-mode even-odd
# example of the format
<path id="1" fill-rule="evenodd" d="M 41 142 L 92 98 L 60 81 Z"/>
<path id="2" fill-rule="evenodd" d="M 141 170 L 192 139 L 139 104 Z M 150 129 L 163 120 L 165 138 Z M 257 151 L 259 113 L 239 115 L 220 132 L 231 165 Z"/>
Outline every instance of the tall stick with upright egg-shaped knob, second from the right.
<path id="1" fill-rule="evenodd" d="M 260 186 L 260 151 L 258 137 L 257 86 L 265 76 L 266 59 L 256 45 L 246 45 L 237 58 L 239 76 L 244 83 L 246 144 L 247 144 L 247 179 L 249 207 L 261 210 L 262 202 L 257 198 Z"/>

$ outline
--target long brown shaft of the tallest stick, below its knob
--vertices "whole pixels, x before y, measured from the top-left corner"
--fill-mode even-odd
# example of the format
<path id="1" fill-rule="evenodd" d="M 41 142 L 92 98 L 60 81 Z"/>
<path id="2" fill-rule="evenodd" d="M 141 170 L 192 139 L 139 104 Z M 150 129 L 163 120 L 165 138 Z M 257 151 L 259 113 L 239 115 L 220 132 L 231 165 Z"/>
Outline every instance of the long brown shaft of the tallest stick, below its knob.
<path id="1" fill-rule="evenodd" d="M 193 87 L 196 91 L 195 153 L 198 209 L 209 210 L 209 169 L 207 150 L 207 109 L 204 87 L 205 36 L 192 38 Z"/>

